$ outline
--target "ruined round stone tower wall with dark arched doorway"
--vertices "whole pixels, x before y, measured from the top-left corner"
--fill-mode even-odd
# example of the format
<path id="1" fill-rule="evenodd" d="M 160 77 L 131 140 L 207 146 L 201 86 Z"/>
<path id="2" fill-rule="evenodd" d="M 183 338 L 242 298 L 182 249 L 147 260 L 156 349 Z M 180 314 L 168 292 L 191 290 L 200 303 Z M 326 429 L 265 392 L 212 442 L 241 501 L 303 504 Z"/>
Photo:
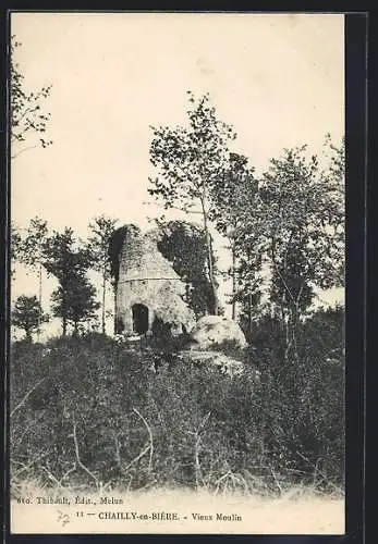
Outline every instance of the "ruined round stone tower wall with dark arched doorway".
<path id="1" fill-rule="evenodd" d="M 195 316 L 182 298 L 185 284 L 158 250 L 151 233 L 144 234 L 135 225 L 123 228 L 126 234 L 118 252 L 115 332 L 188 332 Z"/>

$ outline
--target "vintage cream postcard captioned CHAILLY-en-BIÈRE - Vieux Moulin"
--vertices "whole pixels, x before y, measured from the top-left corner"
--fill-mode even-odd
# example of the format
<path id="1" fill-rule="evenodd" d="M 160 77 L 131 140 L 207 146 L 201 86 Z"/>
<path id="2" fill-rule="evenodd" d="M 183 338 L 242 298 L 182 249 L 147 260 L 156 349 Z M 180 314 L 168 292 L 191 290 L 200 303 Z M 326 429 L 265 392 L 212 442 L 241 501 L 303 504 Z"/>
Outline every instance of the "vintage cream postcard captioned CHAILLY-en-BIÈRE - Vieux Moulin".
<path id="1" fill-rule="evenodd" d="M 345 531 L 344 15 L 10 15 L 12 534 Z"/>

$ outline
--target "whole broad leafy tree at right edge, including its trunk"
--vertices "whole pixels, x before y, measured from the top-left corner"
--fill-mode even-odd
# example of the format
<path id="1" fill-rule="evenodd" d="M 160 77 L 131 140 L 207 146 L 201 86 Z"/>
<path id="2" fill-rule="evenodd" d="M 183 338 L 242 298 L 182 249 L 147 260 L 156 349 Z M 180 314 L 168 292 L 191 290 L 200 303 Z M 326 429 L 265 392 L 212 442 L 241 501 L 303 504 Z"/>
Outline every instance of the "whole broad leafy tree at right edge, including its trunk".
<path id="1" fill-rule="evenodd" d="M 286 357 L 291 348 L 297 354 L 297 324 L 312 300 L 312 286 L 343 282 L 343 163 L 342 151 L 331 150 L 337 166 L 331 160 L 324 170 L 317 156 L 306 156 L 306 146 L 272 159 L 253 213 L 246 209 L 242 218 L 243 248 L 266 257 L 271 267 L 271 302 L 279 308 Z"/>

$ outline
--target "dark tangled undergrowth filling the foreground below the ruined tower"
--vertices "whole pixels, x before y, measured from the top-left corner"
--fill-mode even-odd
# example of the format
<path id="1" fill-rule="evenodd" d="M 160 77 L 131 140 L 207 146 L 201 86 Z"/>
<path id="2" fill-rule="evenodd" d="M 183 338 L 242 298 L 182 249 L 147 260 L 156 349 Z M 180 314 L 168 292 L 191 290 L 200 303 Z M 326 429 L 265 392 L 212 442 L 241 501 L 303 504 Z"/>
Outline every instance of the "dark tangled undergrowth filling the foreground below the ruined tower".
<path id="1" fill-rule="evenodd" d="M 341 489 L 344 368 L 333 349 L 342 313 L 318 312 L 303 324 L 300 366 L 283 360 L 279 322 L 267 321 L 245 372 L 232 379 L 180 362 L 174 353 L 127 348 L 98 334 L 32 348 L 15 343 L 14 489 L 29 473 L 50 485 L 109 490 L 219 492 L 230 481 L 252 493 L 302 483 Z M 329 330 L 321 339 L 320 330 Z"/>

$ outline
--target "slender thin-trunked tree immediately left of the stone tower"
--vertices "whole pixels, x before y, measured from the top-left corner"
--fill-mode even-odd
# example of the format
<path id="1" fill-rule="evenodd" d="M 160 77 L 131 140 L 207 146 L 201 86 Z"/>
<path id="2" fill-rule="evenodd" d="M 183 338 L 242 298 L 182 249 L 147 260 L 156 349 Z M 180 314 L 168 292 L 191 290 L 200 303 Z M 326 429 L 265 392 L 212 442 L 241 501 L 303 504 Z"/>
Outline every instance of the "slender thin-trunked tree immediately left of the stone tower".
<path id="1" fill-rule="evenodd" d="M 101 326 L 103 334 L 106 334 L 107 282 L 110 280 L 109 244 L 117 223 L 115 219 L 99 215 L 89 224 L 92 236 L 88 239 L 88 247 L 93 258 L 93 267 L 101 274 L 102 279 Z"/>

